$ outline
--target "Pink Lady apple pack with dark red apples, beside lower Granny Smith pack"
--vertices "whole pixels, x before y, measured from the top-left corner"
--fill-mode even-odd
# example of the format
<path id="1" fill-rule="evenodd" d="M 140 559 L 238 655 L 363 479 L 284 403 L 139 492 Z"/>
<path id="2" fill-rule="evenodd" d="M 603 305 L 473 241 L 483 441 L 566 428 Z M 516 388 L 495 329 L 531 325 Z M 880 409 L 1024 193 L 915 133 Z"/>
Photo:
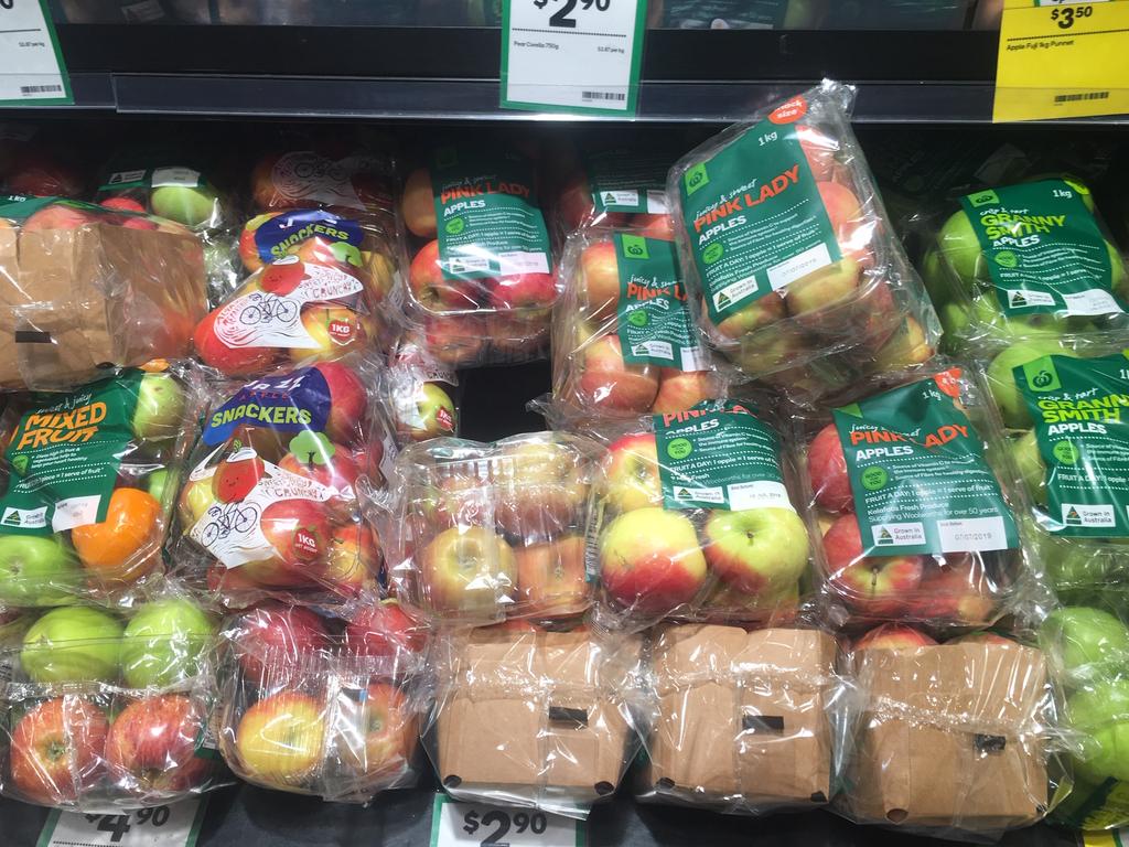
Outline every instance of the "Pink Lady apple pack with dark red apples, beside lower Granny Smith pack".
<path id="1" fill-rule="evenodd" d="M 1025 497 L 987 388 L 943 360 L 797 413 L 828 619 L 991 625 L 1032 587 Z"/>

